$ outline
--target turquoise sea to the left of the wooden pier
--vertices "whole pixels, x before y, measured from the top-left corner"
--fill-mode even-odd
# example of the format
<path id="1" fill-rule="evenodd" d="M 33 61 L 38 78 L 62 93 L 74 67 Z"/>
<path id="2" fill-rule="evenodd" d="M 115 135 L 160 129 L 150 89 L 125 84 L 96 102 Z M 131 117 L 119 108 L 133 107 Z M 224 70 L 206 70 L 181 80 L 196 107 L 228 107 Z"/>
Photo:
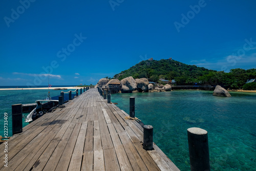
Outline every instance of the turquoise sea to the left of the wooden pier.
<path id="1" fill-rule="evenodd" d="M 71 91 L 74 91 L 72 89 Z M 50 90 L 51 97 L 59 96 L 60 92 L 68 92 L 70 90 Z M 0 136 L 4 137 L 4 114 L 8 114 L 8 136 L 12 136 L 12 104 L 34 103 L 35 100 L 45 99 L 48 90 L 2 90 L 0 91 Z M 78 91 L 80 93 L 80 91 Z M 75 92 L 72 92 L 75 95 Z M 26 117 L 29 113 L 24 113 Z M 23 121 L 25 119 L 23 118 Z M 23 122 L 23 127 L 28 123 Z M 5 130 L 6 131 L 6 130 Z"/>

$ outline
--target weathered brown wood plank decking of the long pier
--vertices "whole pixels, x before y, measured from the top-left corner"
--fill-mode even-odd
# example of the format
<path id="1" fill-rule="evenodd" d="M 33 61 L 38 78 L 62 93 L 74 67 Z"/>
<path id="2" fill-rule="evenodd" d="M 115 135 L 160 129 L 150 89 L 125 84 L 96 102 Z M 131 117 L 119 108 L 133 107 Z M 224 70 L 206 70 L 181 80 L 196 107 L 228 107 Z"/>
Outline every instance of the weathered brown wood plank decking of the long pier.
<path id="1" fill-rule="evenodd" d="M 127 104 L 129 105 L 129 104 Z M 143 129 L 90 89 L 8 141 L 1 170 L 179 170 L 161 149 L 145 151 Z"/>

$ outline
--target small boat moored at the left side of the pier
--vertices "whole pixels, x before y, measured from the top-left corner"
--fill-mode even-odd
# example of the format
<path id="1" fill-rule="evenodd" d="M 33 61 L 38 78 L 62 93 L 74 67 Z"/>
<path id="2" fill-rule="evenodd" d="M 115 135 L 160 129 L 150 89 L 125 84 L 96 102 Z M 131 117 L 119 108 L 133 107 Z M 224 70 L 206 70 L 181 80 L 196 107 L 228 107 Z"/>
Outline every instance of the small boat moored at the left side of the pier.
<path id="1" fill-rule="evenodd" d="M 36 108 L 28 114 L 25 122 L 32 122 L 42 115 L 50 112 L 52 108 L 58 105 L 58 100 L 52 100 L 51 98 L 47 98 L 44 100 L 36 100 Z"/>

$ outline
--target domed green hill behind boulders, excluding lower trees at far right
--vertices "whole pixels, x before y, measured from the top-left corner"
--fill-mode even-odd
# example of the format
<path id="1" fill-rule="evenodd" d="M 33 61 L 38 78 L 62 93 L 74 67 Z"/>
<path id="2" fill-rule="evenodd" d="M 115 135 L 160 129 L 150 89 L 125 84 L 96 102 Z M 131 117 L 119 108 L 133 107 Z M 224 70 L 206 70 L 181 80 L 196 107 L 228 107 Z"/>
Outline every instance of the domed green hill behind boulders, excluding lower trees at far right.
<path id="1" fill-rule="evenodd" d="M 167 80 L 175 79 L 178 84 L 191 84 L 210 72 L 217 71 L 195 65 L 186 65 L 173 59 L 143 60 L 130 69 L 116 74 L 114 78 L 121 80 L 132 76 L 134 79 L 148 78 L 154 82 L 158 82 L 159 78 L 163 78 Z"/>

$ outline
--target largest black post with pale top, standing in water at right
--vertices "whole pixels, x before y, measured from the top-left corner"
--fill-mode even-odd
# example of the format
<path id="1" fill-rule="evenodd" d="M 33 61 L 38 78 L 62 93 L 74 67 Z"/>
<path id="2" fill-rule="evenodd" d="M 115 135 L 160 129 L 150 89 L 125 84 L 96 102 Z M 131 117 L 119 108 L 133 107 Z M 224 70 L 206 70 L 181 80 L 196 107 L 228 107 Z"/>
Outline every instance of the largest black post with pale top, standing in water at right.
<path id="1" fill-rule="evenodd" d="M 190 170 L 210 170 L 207 131 L 199 127 L 187 129 Z"/>

